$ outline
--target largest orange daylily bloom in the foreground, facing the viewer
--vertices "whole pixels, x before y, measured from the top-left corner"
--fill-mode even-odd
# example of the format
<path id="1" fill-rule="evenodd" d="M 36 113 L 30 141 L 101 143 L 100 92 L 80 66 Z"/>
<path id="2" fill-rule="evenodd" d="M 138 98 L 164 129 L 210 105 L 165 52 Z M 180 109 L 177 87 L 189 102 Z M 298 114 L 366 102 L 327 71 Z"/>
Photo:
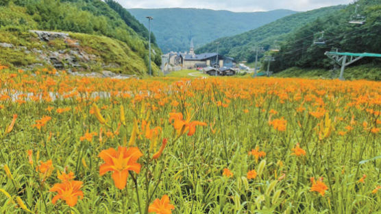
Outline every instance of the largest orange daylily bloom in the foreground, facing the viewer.
<path id="1" fill-rule="evenodd" d="M 108 171 L 113 171 L 112 179 L 118 189 L 124 189 L 127 184 L 129 171 L 140 172 L 140 164 L 136 163 L 138 158 L 143 156 L 138 147 L 118 147 L 118 151 L 114 148 L 103 150 L 99 153 L 105 163 L 99 167 L 99 175 L 103 176 Z"/>

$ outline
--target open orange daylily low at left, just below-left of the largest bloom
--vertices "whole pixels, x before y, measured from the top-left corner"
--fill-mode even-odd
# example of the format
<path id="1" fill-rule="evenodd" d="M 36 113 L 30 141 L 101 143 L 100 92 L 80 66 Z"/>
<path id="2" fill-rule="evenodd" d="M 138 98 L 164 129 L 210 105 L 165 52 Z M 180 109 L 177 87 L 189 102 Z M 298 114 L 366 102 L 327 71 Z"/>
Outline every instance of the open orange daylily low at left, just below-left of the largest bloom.
<path id="1" fill-rule="evenodd" d="M 57 192 L 58 194 L 53 197 L 51 202 L 56 204 L 57 200 L 62 199 L 69 206 L 75 206 L 75 204 L 77 204 L 78 198 L 84 198 L 84 192 L 80 190 L 82 184 L 82 181 L 70 180 L 54 185 L 51 187 L 51 189 L 49 189 L 49 191 Z"/>

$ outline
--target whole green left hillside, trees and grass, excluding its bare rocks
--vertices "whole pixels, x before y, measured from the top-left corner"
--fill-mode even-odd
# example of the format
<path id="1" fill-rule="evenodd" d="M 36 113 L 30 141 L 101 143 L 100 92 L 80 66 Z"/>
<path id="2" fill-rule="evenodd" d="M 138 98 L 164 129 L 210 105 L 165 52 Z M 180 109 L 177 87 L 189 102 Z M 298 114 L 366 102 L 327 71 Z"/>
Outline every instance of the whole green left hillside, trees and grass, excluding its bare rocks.
<path id="1" fill-rule="evenodd" d="M 75 51 L 86 51 L 94 56 L 97 60 L 93 60 L 93 67 L 97 69 L 111 67 L 108 70 L 119 73 L 147 72 L 147 29 L 128 12 L 120 13 L 116 3 L 108 3 L 112 7 L 101 0 L 2 0 L 0 43 L 6 45 L 0 47 L 1 63 L 10 66 L 49 64 L 35 52 L 40 55 L 69 52 L 71 47 L 67 40 L 49 43 L 36 40 L 36 35 L 29 30 L 39 29 L 68 32 L 69 38 L 79 43 Z M 158 71 L 161 51 L 155 44 L 153 52 L 153 69 Z"/>

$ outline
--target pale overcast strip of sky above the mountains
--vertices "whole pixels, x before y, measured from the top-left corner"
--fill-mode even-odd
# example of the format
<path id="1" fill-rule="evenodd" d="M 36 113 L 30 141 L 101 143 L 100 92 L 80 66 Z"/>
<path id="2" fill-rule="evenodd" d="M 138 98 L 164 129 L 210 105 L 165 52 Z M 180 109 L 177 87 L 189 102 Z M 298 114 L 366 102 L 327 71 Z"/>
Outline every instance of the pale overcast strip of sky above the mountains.
<path id="1" fill-rule="evenodd" d="M 276 9 L 313 10 L 354 0 L 116 0 L 124 8 L 208 8 L 234 12 L 255 12 Z"/>

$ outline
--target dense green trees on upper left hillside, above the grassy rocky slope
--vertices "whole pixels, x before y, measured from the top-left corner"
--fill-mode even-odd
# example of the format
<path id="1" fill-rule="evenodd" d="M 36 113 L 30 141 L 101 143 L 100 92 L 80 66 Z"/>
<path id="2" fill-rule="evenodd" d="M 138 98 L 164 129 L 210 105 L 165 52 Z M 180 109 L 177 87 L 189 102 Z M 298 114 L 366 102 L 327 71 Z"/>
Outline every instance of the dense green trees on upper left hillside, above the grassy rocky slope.
<path id="1" fill-rule="evenodd" d="M 112 5 L 112 6 L 109 6 Z M 2 32 L 42 29 L 107 36 L 127 44 L 148 65 L 148 30 L 120 5 L 101 0 L 6 0 L 0 5 Z M 153 62 L 161 50 L 153 39 Z"/>

